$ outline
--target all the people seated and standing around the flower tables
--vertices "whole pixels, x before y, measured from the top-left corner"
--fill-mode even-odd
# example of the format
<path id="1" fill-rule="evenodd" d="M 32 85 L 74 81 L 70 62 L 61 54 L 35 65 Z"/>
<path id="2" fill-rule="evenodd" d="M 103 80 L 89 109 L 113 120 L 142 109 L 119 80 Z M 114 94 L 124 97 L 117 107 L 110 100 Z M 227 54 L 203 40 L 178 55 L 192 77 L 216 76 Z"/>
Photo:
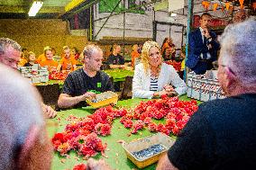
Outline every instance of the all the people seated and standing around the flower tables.
<path id="1" fill-rule="evenodd" d="M 160 158 L 157 169 L 251 169 L 256 158 L 256 22 L 247 20 L 228 25 L 220 40 L 210 31 L 211 15 L 203 13 L 200 27 L 189 33 L 189 54 L 186 65 L 196 74 L 204 74 L 218 60 L 218 80 L 226 98 L 202 103 L 187 122 L 175 144 Z M 217 59 L 216 51 L 220 49 Z M 170 58 L 162 58 L 165 51 Z M 78 54 L 78 50 L 76 50 Z M 107 63 L 111 68 L 124 64 L 121 47 L 114 45 Z M 187 85 L 174 67 L 164 60 L 172 59 L 175 45 L 164 40 L 162 47 L 146 41 L 142 51 L 133 47 L 133 97 L 154 98 L 162 94 L 182 95 Z M 22 55 L 23 53 L 23 55 Z M 184 56 L 184 51 L 181 52 Z M 28 56 L 28 61 L 24 56 Z M 101 71 L 103 50 L 87 45 L 82 51 L 83 67 L 76 66 L 76 56 L 63 47 L 59 62 L 54 49 L 44 48 L 35 58 L 14 40 L 0 39 L 0 169 L 50 169 L 52 147 L 47 138 L 43 116 L 55 117 L 57 112 L 41 102 L 40 94 L 20 76 L 18 65 L 39 63 L 51 69 L 71 70 L 59 95 L 60 108 L 80 107 L 92 92 L 114 91 L 110 77 Z M 141 62 L 135 64 L 136 58 Z M 53 68 L 54 67 L 54 68 Z M 14 68 L 14 69 L 11 69 Z M 19 83 L 17 83 L 19 82 Z M 26 95 L 24 95 L 26 94 Z M 8 101 L 6 103 L 6 101 Z M 240 139 L 238 139 L 241 137 Z M 4 149 L 4 150 L 3 150 Z M 111 169 L 105 161 L 89 159 L 88 169 Z"/>

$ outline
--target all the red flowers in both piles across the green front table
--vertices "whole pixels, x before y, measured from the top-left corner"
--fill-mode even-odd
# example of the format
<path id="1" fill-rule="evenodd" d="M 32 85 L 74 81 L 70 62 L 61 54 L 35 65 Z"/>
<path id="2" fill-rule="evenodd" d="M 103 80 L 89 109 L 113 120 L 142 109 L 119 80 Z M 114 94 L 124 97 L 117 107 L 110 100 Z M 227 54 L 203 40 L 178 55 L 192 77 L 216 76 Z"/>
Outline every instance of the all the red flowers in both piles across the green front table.
<path id="1" fill-rule="evenodd" d="M 55 150 L 62 156 L 67 155 L 71 149 L 85 158 L 94 157 L 98 152 L 104 156 L 106 144 L 103 144 L 97 135 L 109 135 L 116 118 L 122 117 L 121 122 L 125 128 L 132 130 L 131 133 L 146 127 L 150 131 L 160 131 L 167 135 L 172 132 L 177 135 L 196 111 L 196 101 L 179 101 L 178 97 L 167 96 L 142 102 L 132 112 L 125 109 L 114 110 L 112 106 L 106 106 L 85 118 L 70 115 L 68 121 L 71 123 L 66 126 L 64 132 L 56 133 L 51 141 Z M 165 124 L 156 124 L 152 121 L 162 118 L 166 118 Z"/>

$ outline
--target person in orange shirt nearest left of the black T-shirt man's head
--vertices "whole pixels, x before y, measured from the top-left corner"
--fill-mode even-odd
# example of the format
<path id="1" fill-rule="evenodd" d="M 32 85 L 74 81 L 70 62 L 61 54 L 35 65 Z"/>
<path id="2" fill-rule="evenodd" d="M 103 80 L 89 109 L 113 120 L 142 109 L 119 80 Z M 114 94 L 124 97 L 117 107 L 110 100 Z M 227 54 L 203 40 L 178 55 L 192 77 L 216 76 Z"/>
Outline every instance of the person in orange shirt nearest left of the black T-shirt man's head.
<path id="1" fill-rule="evenodd" d="M 66 71 L 74 71 L 77 69 L 77 60 L 71 55 L 69 46 L 63 47 L 63 57 L 59 61 L 58 71 L 60 71 L 60 68 Z"/>

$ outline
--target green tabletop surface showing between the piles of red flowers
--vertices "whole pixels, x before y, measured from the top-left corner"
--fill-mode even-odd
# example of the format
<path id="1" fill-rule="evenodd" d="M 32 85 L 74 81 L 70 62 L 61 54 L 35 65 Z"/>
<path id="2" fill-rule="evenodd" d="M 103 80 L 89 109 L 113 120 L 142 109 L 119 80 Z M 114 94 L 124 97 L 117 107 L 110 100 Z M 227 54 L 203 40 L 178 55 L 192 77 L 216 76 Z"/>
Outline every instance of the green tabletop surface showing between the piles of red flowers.
<path id="1" fill-rule="evenodd" d="M 187 98 L 187 95 L 183 95 L 179 97 L 180 100 L 190 100 Z M 146 101 L 147 99 L 129 99 L 124 101 L 119 101 L 117 103 L 117 106 L 119 107 L 126 107 L 126 108 L 133 108 L 141 101 Z M 58 112 L 58 116 L 55 119 L 48 120 L 47 121 L 47 130 L 50 135 L 50 139 L 53 137 L 53 135 L 57 132 L 62 132 L 65 129 L 66 124 L 68 121 L 66 119 L 69 117 L 70 114 L 76 116 L 76 117 L 86 117 L 87 115 L 92 114 L 96 110 L 91 107 L 85 107 L 80 109 L 72 109 L 72 110 L 66 110 Z M 60 121 L 59 121 L 60 120 Z M 154 120 L 155 121 L 155 120 Z M 163 122 L 164 120 L 155 121 L 155 122 Z M 147 130 L 139 130 L 137 134 L 132 134 L 131 136 L 128 136 L 130 130 L 125 129 L 123 127 L 123 124 L 120 122 L 120 118 L 114 120 L 114 123 L 112 125 L 111 135 L 106 137 L 100 137 L 103 141 L 103 143 L 107 143 L 107 148 L 105 150 L 105 155 L 108 157 L 102 157 L 99 153 L 96 157 L 96 159 L 104 158 L 105 161 L 113 168 L 113 169 L 119 169 L 119 170 L 130 170 L 130 169 L 138 169 L 133 163 L 127 159 L 125 152 L 123 150 L 122 144 L 118 143 L 117 141 L 122 139 L 125 142 L 130 142 L 134 139 L 141 139 L 143 137 L 149 136 L 152 133 Z M 175 137 L 173 136 L 175 139 Z M 61 157 L 59 153 L 54 153 L 54 157 L 52 160 L 51 169 L 54 170 L 64 170 L 64 169 L 72 169 L 75 165 L 84 163 L 86 164 L 87 161 L 83 160 L 82 157 L 77 157 L 77 154 L 73 151 L 69 153 L 68 158 Z M 151 166 L 147 166 L 144 169 L 155 169 L 156 164 L 153 164 Z"/>

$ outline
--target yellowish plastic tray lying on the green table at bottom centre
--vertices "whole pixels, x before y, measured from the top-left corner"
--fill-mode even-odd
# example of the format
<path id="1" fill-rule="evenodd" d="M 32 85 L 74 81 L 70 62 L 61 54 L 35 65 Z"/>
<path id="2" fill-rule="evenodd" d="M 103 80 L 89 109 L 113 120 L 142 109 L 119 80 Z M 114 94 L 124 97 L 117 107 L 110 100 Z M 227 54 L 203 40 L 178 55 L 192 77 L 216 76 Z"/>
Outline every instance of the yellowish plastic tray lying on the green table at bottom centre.
<path id="1" fill-rule="evenodd" d="M 143 168 L 157 162 L 161 155 L 166 153 L 167 150 L 174 144 L 174 142 L 174 139 L 171 139 L 169 136 L 159 132 L 143 139 L 137 139 L 130 143 L 124 143 L 123 149 L 125 150 L 126 156 L 133 162 L 134 165 L 138 166 L 139 168 Z M 145 157 L 144 159 L 138 159 L 137 157 L 133 156 L 133 152 L 150 148 L 156 144 L 160 144 L 165 149 L 158 154 L 155 154 L 151 157 Z"/>

